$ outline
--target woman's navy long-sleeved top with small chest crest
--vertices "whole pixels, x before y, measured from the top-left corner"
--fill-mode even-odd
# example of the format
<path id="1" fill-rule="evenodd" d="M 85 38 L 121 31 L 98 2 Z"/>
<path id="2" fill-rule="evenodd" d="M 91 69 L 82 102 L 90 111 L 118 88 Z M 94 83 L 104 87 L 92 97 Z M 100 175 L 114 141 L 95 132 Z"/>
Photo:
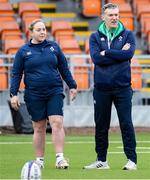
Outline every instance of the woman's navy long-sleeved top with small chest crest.
<path id="1" fill-rule="evenodd" d="M 53 41 L 44 40 L 39 44 L 30 41 L 18 50 L 12 68 L 11 94 L 17 95 L 23 74 L 25 92 L 35 96 L 62 93 L 62 79 L 70 89 L 77 88 L 63 52 Z"/>

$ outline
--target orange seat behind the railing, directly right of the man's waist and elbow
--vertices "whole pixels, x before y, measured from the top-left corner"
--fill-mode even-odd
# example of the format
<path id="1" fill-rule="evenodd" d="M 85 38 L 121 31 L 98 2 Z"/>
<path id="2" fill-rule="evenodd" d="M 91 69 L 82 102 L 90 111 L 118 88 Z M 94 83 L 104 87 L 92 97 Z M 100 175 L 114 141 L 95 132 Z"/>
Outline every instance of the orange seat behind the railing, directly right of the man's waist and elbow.
<path id="1" fill-rule="evenodd" d="M 131 60 L 131 84 L 135 91 L 139 91 L 142 88 L 141 67 L 138 59 L 135 58 Z"/>

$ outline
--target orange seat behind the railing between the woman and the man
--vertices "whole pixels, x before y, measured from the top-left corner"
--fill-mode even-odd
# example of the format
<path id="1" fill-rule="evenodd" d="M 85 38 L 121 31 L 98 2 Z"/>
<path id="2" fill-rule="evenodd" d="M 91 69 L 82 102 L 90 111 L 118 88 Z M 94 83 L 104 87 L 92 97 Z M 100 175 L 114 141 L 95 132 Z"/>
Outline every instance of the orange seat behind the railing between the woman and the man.
<path id="1" fill-rule="evenodd" d="M 89 79 L 88 79 L 88 67 L 86 66 L 85 59 L 82 58 L 72 58 L 70 63 L 74 66 L 73 76 L 77 82 L 77 87 L 79 91 L 89 89 Z"/>

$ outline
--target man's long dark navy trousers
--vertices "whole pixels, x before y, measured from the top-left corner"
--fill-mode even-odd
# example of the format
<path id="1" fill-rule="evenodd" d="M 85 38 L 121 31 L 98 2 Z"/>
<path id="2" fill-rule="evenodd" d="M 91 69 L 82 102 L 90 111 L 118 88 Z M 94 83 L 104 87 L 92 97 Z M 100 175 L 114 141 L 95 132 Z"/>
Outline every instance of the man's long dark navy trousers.
<path id="1" fill-rule="evenodd" d="M 122 88 L 111 91 L 94 89 L 95 150 L 97 159 L 106 161 L 108 131 L 110 128 L 111 108 L 114 103 L 119 118 L 124 152 L 127 159 L 137 163 L 135 132 L 132 123 L 132 89 Z"/>

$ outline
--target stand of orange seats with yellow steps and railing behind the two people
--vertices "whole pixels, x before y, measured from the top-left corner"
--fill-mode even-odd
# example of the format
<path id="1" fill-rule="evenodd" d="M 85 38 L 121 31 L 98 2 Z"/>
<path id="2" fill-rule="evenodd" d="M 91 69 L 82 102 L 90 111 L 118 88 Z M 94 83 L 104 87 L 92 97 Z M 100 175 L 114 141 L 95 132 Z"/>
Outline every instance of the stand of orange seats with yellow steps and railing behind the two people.
<path id="1" fill-rule="evenodd" d="M 140 113 L 146 113 L 146 106 L 149 108 L 150 105 L 150 0 L 0 0 L 0 106 L 6 105 L 6 96 L 9 94 L 14 54 L 30 38 L 29 24 L 34 19 L 42 18 L 47 26 L 48 39 L 60 44 L 77 81 L 79 95 L 73 105 L 80 110 L 83 105 L 90 113 L 93 105 L 91 90 L 94 66 L 89 55 L 89 36 L 97 29 L 101 21 L 101 7 L 106 2 L 119 5 L 120 20 L 136 35 L 137 49 L 131 61 L 133 104 L 135 109 L 136 106 L 140 108 L 144 105 L 144 112 Z M 20 91 L 23 90 L 22 79 Z M 70 102 L 66 100 L 65 105 L 70 105 Z M 7 111 L 8 107 L 5 109 Z M 71 113 L 69 110 L 68 119 Z M 89 115 L 91 118 L 93 116 Z M 139 119 L 138 115 L 135 119 Z"/>

